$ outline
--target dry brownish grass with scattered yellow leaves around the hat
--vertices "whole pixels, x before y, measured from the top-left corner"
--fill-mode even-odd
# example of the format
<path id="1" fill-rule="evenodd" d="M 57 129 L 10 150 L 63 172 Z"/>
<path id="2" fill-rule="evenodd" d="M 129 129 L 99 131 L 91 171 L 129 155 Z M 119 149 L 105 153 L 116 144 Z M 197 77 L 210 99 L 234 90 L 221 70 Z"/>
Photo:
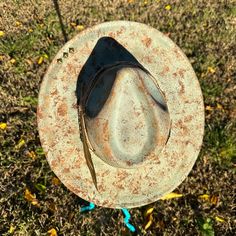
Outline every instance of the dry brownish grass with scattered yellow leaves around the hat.
<path id="1" fill-rule="evenodd" d="M 64 44 L 50 0 L 0 2 L 0 235 L 129 235 L 119 210 L 81 214 L 81 200 L 49 168 L 40 146 L 39 85 Z M 140 235 L 235 235 L 236 5 L 233 0 L 59 1 L 70 39 L 83 28 L 133 20 L 167 33 L 186 53 L 206 107 L 203 148 L 180 198 L 132 209 Z M 30 192 L 27 192 L 28 189 Z"/>

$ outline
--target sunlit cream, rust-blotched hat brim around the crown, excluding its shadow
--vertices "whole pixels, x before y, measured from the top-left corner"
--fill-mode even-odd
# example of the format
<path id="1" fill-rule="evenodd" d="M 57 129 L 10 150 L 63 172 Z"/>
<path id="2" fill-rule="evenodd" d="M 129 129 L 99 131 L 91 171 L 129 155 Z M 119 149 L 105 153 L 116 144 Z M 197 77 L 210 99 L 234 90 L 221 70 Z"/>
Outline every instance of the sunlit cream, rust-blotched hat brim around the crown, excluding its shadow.
<path id="1" fill-rule="evenodd" d="M 114 38 L 153 75 L 172 124 L 164 150 L 141 168 L 116 168 L 91 152 L 97 191 L 80 140 L 75 90 L 78 74 L 101 37 Z M 74 53 L 63 58 L 70 48 Z M 203 97 L 191 64 L 167 36 L 141 23 L 107 22 L 82 31 L 58 52 L 41 84 L 37 121 L 47 160 L 67 188 L 99 206 L 133 208 L 171 192 L 192 169 L 204 133 Z"/>

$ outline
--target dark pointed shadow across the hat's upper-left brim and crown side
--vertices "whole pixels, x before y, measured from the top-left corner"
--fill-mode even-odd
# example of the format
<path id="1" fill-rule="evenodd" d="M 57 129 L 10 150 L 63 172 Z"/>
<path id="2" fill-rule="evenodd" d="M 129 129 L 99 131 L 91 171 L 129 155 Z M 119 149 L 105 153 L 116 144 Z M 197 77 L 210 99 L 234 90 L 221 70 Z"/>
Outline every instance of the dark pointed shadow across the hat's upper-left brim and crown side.
<path id="1" fill-rule="evenodd" d="M 111 37 L 100 38 L 78 75 L 76 84 L 77 103 L 79 104 L 80 102 L 81 91 L 88 91 L 91 84 L 96 83 L 98 77 L 95 75 L 102 68 L 120 62 L 128 62 L 135 64 L 137 67 L 143 67 L 138 60 L 115 39 Z M 88 117 L 96 117 L 103 108 L 116 79 L 116 71 L 114 72 L 115 73 L 113 73 L 109 79 L 106 78 L 101 81 L 102 86 L 100 86 L 100 88 L 90 94 L 89 102 L 85 106 L 85 113 Z"/>

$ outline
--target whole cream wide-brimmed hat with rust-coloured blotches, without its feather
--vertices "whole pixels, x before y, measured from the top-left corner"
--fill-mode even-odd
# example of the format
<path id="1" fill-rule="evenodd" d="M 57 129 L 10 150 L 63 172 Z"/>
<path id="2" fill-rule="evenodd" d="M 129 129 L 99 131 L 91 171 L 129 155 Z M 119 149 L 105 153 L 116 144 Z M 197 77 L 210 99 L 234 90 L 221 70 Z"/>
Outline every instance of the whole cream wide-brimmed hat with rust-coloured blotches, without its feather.
<path id="1" fill-rule="evenodd" d="M 81 138 L 82 91 L 97 188 Z M 192 169 L 204 132 L 202 93 L 187 57 L 158 30 L 127 21 L 88 28 L 63 46 L 41 84 L 37 119 L 62 183 L 110 208 L 173 191 Z"/>

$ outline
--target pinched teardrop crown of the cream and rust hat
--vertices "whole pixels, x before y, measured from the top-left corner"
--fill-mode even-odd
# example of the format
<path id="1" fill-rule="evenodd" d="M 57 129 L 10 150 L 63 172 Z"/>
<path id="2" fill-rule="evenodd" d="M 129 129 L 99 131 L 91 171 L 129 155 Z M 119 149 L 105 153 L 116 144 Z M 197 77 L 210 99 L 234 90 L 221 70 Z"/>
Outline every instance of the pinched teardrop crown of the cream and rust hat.
<path id="1" fill-rule="evenodd" d="M 109 165 L 135 168 L 147 157 L 158 158 L 164 148 L 170 129 L 167 104 L 151 75 L 139 66 L 121 63 L 99 73 L 86 110 L 92 114 L 85 119 L 89 140 Z"/>

